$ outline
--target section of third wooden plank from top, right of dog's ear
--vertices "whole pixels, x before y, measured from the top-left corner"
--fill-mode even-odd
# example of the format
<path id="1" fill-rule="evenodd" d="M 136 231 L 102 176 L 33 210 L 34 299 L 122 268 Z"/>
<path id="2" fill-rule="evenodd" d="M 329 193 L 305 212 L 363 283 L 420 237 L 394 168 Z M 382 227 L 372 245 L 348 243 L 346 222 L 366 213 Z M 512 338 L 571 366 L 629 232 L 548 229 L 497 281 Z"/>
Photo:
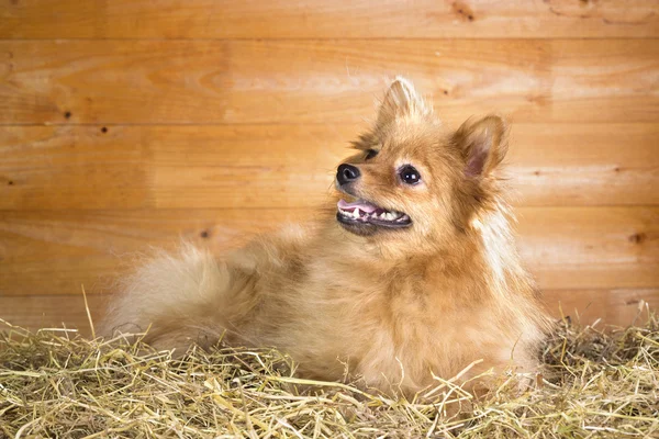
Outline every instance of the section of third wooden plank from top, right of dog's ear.
<path id="1" fill-rule="evenodd" d="M 659 204 L 659 125 L 513 124 L 517 205 Z"/>

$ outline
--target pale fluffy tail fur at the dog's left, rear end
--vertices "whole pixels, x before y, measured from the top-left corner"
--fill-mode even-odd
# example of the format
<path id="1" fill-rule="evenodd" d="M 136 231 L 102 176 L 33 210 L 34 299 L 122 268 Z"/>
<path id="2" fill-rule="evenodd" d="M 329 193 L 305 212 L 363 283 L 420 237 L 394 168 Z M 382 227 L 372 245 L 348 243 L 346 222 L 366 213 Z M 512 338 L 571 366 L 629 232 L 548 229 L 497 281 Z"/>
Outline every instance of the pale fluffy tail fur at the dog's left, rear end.
<path id="1" fill-rule="evenodd" d="M 183 244 L 175 254 L 158 251 L 120 284 L 101 334 L 146 333 L 146 342 L 179 354 L 193 342 L 212 345 L 231 329 L 226 299 L 235 283 L 208 250 Z"/>

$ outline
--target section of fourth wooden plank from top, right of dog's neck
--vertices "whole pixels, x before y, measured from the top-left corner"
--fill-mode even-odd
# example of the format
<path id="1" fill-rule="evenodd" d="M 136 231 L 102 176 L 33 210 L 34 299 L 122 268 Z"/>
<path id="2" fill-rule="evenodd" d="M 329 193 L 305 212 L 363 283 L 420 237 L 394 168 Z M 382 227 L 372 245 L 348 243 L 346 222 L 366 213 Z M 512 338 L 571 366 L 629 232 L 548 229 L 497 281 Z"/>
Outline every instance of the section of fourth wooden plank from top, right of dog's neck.
<path id="1" fill-rule="evenodd" d="M 543 289 L 655 288 L 659 209 L 517 209 L 518 246 Z"/>

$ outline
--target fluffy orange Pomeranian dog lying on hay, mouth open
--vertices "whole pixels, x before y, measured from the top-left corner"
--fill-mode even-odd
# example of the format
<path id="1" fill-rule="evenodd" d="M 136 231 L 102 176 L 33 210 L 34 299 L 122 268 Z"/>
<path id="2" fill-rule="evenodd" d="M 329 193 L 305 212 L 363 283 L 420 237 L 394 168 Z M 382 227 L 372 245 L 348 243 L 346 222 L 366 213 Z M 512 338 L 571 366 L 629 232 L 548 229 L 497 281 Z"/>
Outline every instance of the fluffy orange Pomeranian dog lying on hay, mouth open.
<path id="1" fill-rule="evenodd" d="M 181 353 L 219 339 L 277 347 L 301 376 L 340 381 L 347 368 L 389 394 L 533 372 L 549 320 L 496 177 L 506 135 L 494 115 L 446 128 L 399 77 L 338 166 L 331 215 L 222 259 L 191 246 L 156 256 L 104 333 L 148 328 L 148 344 Z"/>

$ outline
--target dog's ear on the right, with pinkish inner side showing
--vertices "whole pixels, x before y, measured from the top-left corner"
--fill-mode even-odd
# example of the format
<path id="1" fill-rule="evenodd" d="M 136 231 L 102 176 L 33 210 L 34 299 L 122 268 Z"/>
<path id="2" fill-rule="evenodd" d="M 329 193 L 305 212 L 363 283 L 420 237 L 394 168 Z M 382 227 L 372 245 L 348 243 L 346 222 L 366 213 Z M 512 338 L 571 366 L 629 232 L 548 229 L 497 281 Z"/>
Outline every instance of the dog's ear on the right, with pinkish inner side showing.
<path id="1" fill-rule="evenodd" d="M 465 158 L 467 177 L 488 176 L 505 157 L 507 151 L 507 126 L 496 116 L 468 120 L 454 135 Z"/>

